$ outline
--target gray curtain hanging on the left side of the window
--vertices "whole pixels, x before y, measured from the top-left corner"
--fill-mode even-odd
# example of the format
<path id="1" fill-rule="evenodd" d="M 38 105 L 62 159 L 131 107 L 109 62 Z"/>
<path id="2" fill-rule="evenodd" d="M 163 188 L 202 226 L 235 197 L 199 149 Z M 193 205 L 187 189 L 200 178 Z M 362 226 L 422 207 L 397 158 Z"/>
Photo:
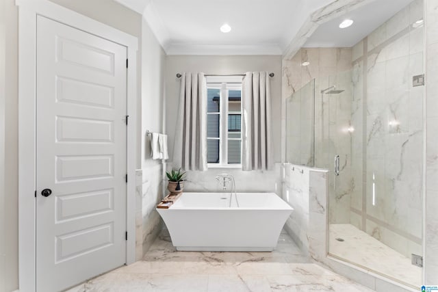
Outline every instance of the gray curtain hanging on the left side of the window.
<path id="1" fill-rule="evenodd" d="M 204 73 L 183 73 L 175 133 L 174 166 L 207 170 L 207 83 Z"/>

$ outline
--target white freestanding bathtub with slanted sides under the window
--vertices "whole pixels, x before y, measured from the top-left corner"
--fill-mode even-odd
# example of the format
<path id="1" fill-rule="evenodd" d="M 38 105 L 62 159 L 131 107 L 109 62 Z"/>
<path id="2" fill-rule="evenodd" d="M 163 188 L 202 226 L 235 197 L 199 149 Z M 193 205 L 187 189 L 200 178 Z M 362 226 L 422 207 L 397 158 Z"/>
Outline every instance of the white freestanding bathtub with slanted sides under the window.
<path id="1" fill-rule="evenodd" d="M 183 193 L 157 209 L 172 244 L 187 251 L 272 251 L 293 209 L 274 193 Z"/>

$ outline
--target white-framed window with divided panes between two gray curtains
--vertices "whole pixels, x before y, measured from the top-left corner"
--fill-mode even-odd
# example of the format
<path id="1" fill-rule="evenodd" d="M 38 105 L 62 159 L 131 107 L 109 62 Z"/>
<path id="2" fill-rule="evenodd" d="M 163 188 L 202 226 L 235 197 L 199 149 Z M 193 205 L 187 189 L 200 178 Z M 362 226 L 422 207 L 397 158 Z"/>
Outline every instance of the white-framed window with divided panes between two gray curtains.
<path id="1" fill-rule="evenodd" d="M 239 165 L 242 157 L 242 79 L 207 80 L 207 156 L 209 166 Z"/>

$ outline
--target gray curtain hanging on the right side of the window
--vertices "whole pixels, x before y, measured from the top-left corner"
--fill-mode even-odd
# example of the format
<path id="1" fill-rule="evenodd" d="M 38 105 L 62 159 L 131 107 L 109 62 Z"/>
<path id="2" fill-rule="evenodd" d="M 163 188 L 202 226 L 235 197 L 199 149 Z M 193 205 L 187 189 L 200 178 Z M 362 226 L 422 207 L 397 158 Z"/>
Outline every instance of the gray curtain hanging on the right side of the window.
<path id="1" fill-rule="evenodd" d="M 242 170 L 272 169 L 268 72 L 246 72 L 242 83 Z"/>

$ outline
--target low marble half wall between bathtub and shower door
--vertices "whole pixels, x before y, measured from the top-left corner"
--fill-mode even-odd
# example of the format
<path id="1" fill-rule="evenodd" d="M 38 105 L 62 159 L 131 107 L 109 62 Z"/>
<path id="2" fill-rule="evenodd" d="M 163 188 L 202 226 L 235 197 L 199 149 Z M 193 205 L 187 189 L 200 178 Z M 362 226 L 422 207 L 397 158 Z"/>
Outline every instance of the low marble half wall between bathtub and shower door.
<path id="1" fill-rule="evenodd" d="M 326 257 L 328 172 L 302 165 L 283 163 L 283 200 L 294 211 L 285 229 L 300 249 L 316 261 Z"/>

